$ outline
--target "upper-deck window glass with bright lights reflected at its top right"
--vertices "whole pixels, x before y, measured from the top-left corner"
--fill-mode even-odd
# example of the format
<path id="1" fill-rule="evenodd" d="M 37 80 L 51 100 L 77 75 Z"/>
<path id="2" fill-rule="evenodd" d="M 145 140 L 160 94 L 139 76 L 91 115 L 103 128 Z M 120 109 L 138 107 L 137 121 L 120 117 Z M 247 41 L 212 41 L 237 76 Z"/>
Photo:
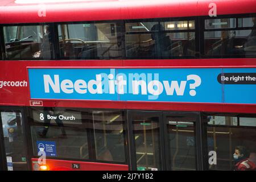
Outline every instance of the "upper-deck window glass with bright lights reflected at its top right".
<path id="1" fill-rule="evenodd" d="M 152 25 L 153 23 L 155 24 Z M 130 27 L 127 24 L 126 27 Z M 143 32 L 134 31 L 133 34 L 126 32 L 126 56 L 140 59 L 195 56 L 195 32 L 164 31 L 193 29 L 194 24 L 193 21 L 164 22 L 160 24 L 151 22 L 150 26 L 147 29 L 144 28 Z M 174 28 L 172 28 L 172 25 L 174 25 Z M 148 29 L 150 27 L 151 29 Z"/>

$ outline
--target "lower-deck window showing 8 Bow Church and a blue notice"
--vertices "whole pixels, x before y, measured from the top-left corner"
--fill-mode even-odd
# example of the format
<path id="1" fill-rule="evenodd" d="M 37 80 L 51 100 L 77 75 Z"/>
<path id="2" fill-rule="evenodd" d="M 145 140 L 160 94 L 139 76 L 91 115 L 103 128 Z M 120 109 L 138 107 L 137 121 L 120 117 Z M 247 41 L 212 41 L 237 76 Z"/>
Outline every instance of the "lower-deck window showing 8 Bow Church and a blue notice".
<path id="1" fill-rule="evenodd" d="M 31 110 L 34 156 L 125 162 L 122 111 Z"/>

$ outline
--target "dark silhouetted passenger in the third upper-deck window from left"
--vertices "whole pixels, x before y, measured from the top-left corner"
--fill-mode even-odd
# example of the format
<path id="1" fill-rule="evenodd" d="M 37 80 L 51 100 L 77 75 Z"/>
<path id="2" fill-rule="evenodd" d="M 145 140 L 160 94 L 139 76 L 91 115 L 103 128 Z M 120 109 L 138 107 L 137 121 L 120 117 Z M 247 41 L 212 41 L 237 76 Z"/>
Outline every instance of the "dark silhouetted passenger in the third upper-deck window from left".
<path id="1" fill-rule="evenodd" d="M 152 56 L 154 57 L 169 57 L 171 52 L 169 51 L 171 46 L 170 36 L 166 36 L 163 31 L 162 24 L 155 24 L 152 26 L 151 31 L 156 31 L 151 34 L 151 39 L 155 40 L 154 47 L 152 48 Z"/>

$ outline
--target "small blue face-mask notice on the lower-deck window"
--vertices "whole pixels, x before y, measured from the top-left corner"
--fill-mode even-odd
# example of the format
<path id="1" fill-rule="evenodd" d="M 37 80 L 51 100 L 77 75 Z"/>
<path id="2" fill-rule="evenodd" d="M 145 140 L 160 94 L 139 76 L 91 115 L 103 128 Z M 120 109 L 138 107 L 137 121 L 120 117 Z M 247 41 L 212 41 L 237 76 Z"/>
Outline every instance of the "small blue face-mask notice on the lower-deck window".
<path id="1" fill-rule="evenodd" d="M 56 143 L 52 141 L 36 141 L 38 153 L 40 151 L 46 152 L 46 156 L 56 157 Z"/>

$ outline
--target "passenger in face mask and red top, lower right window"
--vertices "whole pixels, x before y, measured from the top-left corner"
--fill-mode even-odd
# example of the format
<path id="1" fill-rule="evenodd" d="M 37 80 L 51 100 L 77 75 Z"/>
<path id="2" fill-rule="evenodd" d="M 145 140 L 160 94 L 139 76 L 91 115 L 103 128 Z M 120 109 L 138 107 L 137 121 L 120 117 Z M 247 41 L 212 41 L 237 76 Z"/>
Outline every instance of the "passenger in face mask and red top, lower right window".
<path id="1" fill-rule="evenodd" d="M 247 150 L 244 146 L 237 146 L 235 148 L 234 157 L 234 170 L 235 171 L 255 171 L 255 159 L 253 159 L 253 154 L 247 158 Z"/>

